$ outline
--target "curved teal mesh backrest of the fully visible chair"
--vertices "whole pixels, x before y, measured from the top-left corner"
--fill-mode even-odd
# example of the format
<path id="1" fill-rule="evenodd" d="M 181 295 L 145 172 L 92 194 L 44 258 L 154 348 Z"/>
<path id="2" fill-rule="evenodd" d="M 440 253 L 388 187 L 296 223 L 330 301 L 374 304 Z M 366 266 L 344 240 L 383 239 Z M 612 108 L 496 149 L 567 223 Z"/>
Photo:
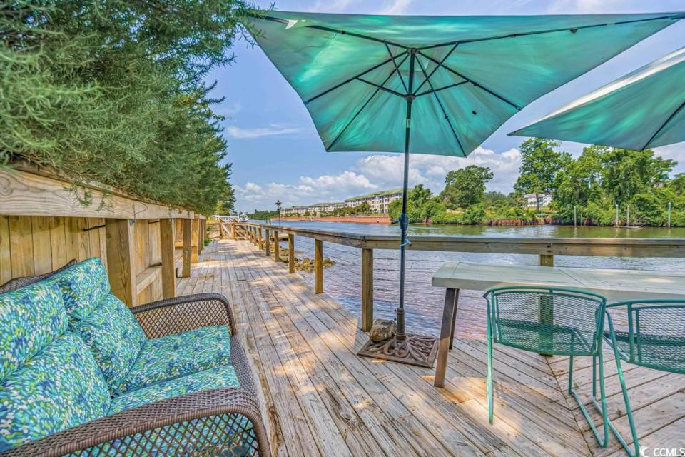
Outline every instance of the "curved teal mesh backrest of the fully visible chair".
<path id="1" fill-rule="evenodd" d="M 536 286 L 492 288 L 484 296 L 494 341 L 539 353 L 597 353 L 607 303 L 603 296 Z"/>

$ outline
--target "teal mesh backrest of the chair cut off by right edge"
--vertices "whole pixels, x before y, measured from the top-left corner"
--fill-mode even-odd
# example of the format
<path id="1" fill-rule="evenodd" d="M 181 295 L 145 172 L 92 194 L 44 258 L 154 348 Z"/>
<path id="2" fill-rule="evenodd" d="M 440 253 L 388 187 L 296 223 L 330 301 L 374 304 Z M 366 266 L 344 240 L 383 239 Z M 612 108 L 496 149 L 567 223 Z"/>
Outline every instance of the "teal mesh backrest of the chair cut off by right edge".
<path id="1" fill-rule="evenodd" d="M 626 322 L 618 320 L 609 331 L 614 346 L 624 360 L 636 365 L 685 373 L 685 298 L 624 301 L 607 306 L 624 311 Z M 613 313 L 613 312 L 612 312 Z M 609 340 L 612 336 L 609 333 Z"/>

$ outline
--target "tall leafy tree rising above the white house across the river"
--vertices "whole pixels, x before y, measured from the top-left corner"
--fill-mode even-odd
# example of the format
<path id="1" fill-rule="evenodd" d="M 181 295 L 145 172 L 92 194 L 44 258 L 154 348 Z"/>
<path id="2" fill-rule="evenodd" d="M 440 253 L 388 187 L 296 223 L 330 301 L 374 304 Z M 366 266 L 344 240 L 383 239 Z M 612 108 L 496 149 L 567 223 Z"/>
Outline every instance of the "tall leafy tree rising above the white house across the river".
<path id="1" fill-rule="evenodd" d="M 542 138 L 527 139 L 519 146 L 521 167 L 514 190 L 521 194 L 535 194 L 537 211 L 540 210 L 537 194 L 554 191 L 557 174 L 571 160 L 569 153 L 554 150 L 558 147 L 558 141 Z"/>

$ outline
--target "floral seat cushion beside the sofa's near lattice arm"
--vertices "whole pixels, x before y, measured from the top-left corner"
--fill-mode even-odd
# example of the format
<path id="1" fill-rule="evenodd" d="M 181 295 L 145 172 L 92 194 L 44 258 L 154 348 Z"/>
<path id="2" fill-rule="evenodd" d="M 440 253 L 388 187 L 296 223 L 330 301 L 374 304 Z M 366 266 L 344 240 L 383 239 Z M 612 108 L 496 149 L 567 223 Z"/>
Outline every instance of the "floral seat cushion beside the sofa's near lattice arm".
<path id="1" fill-rule="evenodd" d="M 236 376 L 233 366 L 217 366 L 208 370 L 198 371 L 198 373 L 182 376 L 181 378 L 162 381 L 135 391 L 122 393 L 112 400 L 108 415 L 153 403 L 154 401 L 220 387 L 240 387 L 238 376 Z"/>

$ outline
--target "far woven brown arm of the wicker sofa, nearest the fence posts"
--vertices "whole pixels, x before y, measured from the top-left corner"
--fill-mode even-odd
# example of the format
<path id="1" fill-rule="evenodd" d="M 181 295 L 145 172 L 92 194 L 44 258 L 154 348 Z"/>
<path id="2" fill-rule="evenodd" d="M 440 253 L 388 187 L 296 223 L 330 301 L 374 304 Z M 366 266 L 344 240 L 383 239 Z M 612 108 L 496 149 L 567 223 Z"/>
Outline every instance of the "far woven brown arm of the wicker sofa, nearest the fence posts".
<path id="1" fill-rule="evenodd" d="M 159 338 L 204 326 L 226 325 L 238 333 L 233 310 L 220 293 L 196 293 L 166 298 L 131 308 L 148 338 Z"/>

